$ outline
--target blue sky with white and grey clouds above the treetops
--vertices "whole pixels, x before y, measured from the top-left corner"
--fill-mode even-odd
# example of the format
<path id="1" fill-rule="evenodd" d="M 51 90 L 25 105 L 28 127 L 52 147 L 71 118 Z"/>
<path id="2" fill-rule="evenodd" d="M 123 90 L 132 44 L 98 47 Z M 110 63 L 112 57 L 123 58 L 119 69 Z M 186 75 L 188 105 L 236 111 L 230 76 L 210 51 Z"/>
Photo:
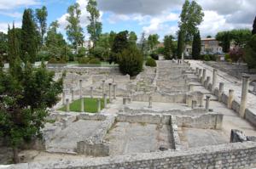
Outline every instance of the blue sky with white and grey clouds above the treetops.
<path id="1" fill-rule="evenodd" d="M 205 17 L 201 25 L 201 37 L 214 37 L 218 31 L 248 28 L 252 29 L 256 16 L 256 0 L 195 0 L 203 8 Z M 60 23 L 59 31 L 66 34 L 67 8 L 79 3 L 82 10 L 81 25 L 84 36 L 88 25 L 86 4 L 88 0 L 0 0 L 0 31 L 6 32 L 8 24 L 15 21 L 20 27 L 25 8 L 48 9 L 48 25 L 55 20 Z M 97 0 L 101 13 L 102 31 L 135 31 L 140 37 L 158 33 L 176 37 L 177 23 L 184 0 Z"/>

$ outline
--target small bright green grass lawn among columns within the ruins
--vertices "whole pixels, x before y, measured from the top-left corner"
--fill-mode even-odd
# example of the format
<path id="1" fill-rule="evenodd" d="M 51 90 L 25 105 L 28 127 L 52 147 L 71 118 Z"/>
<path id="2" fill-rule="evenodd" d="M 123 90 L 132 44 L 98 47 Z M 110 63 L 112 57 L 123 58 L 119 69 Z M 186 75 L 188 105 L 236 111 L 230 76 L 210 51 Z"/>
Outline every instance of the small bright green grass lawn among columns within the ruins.
<path id="1" fill-rule="evenodd" d="M 109 103 L 109 99 L 107 101 Z M 70 111 L 81 112 L 81 99 L 73 101 L 69 105 Z M 96 113 L 97 112 L 97 99 L 84 98 L 84 111 L 88 113 Z M 101 99 L 101 107 L 104 109 L 104 100 Z M 66 106 L 61 107 L 61 111 L 66 111 Z"/>

